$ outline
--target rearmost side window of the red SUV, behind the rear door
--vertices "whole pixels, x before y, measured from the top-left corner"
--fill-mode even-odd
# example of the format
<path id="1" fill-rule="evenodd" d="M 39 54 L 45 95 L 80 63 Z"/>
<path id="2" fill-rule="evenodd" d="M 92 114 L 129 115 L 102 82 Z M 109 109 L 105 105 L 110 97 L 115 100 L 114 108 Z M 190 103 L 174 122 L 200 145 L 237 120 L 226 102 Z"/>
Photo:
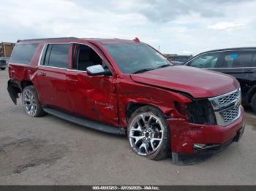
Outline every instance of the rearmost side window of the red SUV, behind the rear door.
<path id="1" fill-rule="evenodd" d="M 11 63 L 31 63 L 34 52 L 36 52 L 38 44 L 20 44 L 15 45 L 12 50 Z"/>

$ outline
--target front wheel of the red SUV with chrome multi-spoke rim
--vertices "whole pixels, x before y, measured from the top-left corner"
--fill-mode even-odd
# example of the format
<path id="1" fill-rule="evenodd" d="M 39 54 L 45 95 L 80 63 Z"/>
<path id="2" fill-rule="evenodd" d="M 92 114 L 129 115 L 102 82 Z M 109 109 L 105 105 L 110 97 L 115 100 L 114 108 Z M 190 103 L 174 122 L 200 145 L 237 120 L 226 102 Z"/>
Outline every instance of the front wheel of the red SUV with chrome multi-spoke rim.
<path id="1" fill-rule="evenodd" d="M 151 160 L 162 160 L 170 154 L 170 128 L 162 112 L 153 106 L 142 106 L 133 112 L 127 126 L 132 150 Z"/>

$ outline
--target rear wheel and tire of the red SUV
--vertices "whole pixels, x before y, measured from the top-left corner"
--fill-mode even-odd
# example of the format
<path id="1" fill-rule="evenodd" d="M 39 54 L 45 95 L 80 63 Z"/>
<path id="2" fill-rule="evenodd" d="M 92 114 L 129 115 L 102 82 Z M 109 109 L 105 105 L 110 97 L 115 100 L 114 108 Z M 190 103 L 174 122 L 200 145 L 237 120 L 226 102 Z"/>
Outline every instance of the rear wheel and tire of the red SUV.
<path id="1" fill-rule="evenodd" d="M 23 89 L 22 104 L 26 114 L 30 117 L 41 117 L 46 114 L 42 109 L 42 105 L 39 103 L 37 92 L 33 85 L 29 85 Z"/>

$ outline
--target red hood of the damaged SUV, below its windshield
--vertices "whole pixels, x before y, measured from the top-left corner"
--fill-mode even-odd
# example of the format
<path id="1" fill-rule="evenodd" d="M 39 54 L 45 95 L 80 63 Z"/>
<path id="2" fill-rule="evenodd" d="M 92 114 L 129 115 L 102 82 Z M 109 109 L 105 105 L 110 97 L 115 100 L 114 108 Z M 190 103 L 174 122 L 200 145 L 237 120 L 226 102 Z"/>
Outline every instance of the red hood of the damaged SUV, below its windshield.
<path id="1" fill-rule="evenodd" d="M 222 95 L 239 86 L 234 77 L 189 66 L 170 66 L 131 74 L 131 77 L 135 82 L 178 90 L 189 93 L 194 98 Z"/>

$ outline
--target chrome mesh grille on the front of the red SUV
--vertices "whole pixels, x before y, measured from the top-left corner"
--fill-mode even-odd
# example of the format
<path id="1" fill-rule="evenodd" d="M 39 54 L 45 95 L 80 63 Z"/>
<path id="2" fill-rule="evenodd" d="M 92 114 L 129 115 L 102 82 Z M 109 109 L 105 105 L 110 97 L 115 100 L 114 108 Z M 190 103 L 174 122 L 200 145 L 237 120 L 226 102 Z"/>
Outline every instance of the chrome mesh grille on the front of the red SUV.
<path id="1" fill-rule="evenodd" d="M 239 117 L 240 99 L 240 88 L 230 93 L 208 99 L 213 106 L 218 125 L 228 125 Z"/>

